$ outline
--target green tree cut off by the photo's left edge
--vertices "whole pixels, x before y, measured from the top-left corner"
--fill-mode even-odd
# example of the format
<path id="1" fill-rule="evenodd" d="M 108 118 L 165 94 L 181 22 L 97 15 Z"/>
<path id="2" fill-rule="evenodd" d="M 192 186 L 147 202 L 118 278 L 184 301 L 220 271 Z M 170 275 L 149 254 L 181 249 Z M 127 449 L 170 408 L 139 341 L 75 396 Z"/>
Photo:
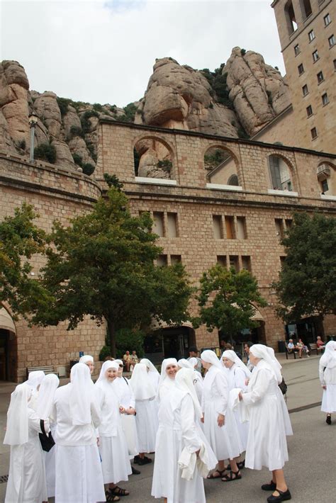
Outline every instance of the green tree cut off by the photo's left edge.
<path id="1" fill-rule="evenodd" d="M 33 223 L 33 207 L 23 203 L 14 215 L 0 222 L 0 302 L 11 305 L 13 317 L 28 318 L 37 305 L 50 297 L 40 281 L 33 279 L 29 260 L 45 250 L 45 232 Z"/>

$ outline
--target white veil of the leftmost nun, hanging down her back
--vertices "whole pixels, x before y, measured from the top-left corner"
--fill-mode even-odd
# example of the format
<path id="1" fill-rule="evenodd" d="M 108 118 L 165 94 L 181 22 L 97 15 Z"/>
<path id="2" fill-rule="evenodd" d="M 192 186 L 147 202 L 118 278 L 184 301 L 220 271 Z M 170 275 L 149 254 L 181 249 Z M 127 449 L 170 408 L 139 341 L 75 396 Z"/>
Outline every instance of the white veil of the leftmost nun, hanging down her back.
<path id="1" fill-rule="evenodd" d="M 7 412 L 7 428 L 4 443 L 19 446 L 28 442 L 28 400 L 31 388 L 18 384 L 11 394 L 11 403 Z"/>

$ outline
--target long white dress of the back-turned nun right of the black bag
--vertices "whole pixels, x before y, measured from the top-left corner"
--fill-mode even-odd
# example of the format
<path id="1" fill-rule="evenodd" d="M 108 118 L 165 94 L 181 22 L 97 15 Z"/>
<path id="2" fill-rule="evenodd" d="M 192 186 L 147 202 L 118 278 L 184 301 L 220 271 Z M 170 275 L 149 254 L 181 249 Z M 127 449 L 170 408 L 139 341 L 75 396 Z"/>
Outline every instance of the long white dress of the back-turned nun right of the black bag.
<path id="1" fill-rule="evenodd" d="M 82 363 L 78 363 L 82 365 Z M 99 409 L 91 402 L 92 424 L 73 425 L 70 416 L 71 386 L 57 388 L 52 417 L 55 430 L 55 503 L 96 503 L 106 501 L 101 460 L 94 428 Z"/>

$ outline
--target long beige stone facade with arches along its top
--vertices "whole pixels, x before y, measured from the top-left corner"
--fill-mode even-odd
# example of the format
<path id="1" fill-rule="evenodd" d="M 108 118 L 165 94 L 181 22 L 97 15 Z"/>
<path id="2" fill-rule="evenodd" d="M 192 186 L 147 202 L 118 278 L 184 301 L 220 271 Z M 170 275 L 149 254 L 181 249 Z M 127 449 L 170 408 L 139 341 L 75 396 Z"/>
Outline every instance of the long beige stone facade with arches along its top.
<path id="1" fill-rule="evenodd" d="M 168 180 L 135 176 L 133 148 L 139 141 L 149 139 L 162 142 L 169 150 L 173 166 Z M 208 183 L 204 154 L 213 147 L 230 153 L 238 186 Z M 272 186 L 271 156 L 279 158 L 279 166 L 286 165 L 291 190 Z M 178 257 L 195 283 L 216 262 L 250 269 L 269 303 L 260 310 L 263 321 L 256 337 L 276 348 L 276 342 L 285 337 L 284 325 L 274 314 L 276 298 L 271 290 L 284 256 L 279 243 L 281 234 L 290 225 L 294 211 L 318 210 L 336 215 L 335 198 L 320 195 L 317 170 L 322 164 L 335 169 L 336 156 L 182 130 L 101 121 L 96 179 L 103 183 L 103 173 L 116 174 L 124 183 L 133 213 L 150 211 L 155 220 L 162 220 L 155 227 L 164 249 L 162 263 L 170 264 Z M 169 215 L 175 215 L 177 222 L 173 235 L 169 231 Z M 191 308 L 196 314 L 196 305 Z M 329 334 L 335 332 L 333 317 L 328 330 Z M 200 348 L 216 346 L 218 334 L 209 334 L 201 327 L 196 330 L 196 343 Z"/>

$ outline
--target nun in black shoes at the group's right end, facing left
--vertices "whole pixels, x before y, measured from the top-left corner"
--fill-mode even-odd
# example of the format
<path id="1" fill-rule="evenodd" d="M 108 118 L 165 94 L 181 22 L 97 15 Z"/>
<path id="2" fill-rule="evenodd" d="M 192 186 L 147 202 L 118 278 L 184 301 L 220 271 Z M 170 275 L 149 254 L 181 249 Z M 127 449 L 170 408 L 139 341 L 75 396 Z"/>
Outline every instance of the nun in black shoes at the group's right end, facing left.
<path id="1" fill-rule="evenodd" d="M 281 382 L 279 363 L 276 364 L 266 346 L 254 344 L 250 348 L 250 362 L 254 366 L 246 392 L 239 398 L 250 414 L 249 435 L 245 466 L 252 470 L 268 468 L 271 482 L 262 485 L 262 490 L 272 491 L 269 503 L 291 499 L 284 478 L 284 464 L 288 461 L 286 429 L 278 383 Z"/>

